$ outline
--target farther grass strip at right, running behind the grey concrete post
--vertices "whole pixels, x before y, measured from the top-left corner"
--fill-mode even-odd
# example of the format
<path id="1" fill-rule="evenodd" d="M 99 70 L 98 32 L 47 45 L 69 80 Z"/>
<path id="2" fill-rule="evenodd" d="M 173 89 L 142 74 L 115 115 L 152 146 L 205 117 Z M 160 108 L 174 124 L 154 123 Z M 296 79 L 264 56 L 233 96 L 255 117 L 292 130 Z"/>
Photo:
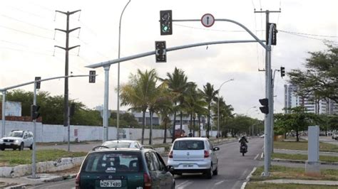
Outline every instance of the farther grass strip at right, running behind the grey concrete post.
<path id="1" fill-rule="evenodd" d="M 307 151 L 307 141 L 274 141 L 274 148 Z M 319 151 L 338 153 L 338 146 L 319 142 Z"/>

